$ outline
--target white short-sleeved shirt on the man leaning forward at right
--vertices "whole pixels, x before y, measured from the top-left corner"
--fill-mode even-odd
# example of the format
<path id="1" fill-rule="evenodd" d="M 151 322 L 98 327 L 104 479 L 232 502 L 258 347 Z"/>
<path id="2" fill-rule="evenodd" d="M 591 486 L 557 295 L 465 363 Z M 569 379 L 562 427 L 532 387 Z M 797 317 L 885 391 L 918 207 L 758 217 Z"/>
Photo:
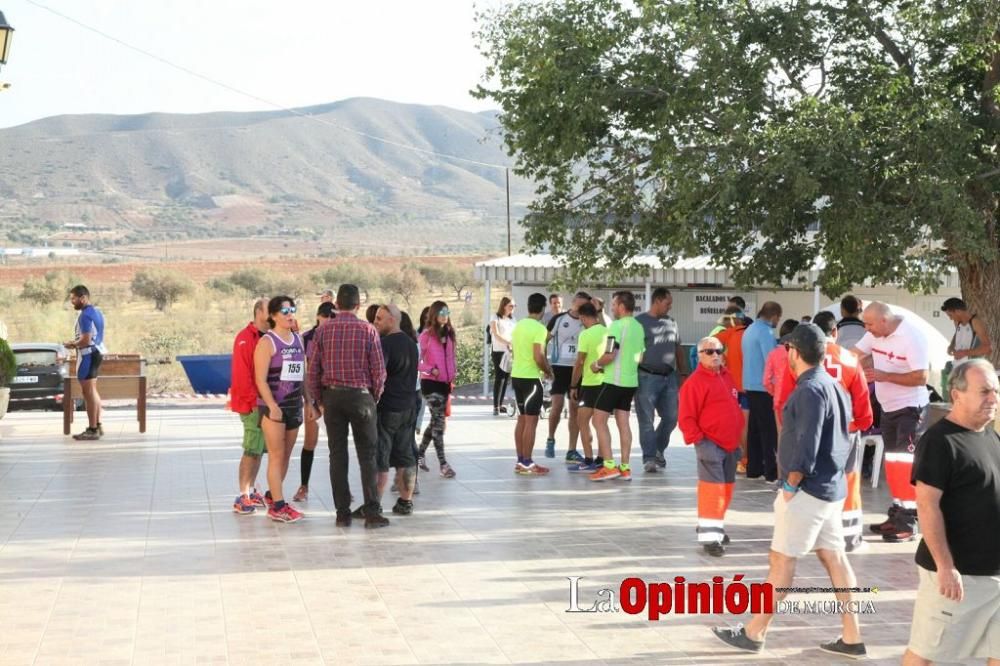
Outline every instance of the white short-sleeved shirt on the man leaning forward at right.
<path id="1" fill-rule="evenodd" d="M 918 327 L 903 319 L 886 338 L 871 333 L 854 345 L 864 354 L 871 354 L 876 370 L 893 373 L 927 370 L 927 336 Z M 905 407 L 923 407 L 929 401 L 926 386 L 900 386 L 890 382 L 875 382 L 875 397 L 882 411 L 895 412 Z"/>

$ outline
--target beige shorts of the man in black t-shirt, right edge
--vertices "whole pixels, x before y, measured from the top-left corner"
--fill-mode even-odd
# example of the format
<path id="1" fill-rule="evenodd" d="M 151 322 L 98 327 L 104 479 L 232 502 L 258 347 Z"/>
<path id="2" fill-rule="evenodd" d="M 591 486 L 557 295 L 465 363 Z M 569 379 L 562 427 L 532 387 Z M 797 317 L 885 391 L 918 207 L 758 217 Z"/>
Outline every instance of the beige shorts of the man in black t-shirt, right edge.
<path id="1" fill-rule="evenodd" d="M 911 652 L 931 661 L 1000 659 L 1000 576 L 962 576 L 962 601 L 938 592 L 937 573 L 917 567 Z"/>

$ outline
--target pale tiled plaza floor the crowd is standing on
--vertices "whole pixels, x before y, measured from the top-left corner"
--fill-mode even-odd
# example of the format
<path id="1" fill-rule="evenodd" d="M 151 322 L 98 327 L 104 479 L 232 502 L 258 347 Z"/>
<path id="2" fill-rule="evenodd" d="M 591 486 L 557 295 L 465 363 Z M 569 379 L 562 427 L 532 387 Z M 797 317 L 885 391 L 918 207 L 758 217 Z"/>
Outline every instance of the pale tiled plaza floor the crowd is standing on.
<path id="1" fill-rule="evenodd" d="M 232 513 L 240 429 L 221 406 L 153 409 L 145 435 L 130 411 L 104 421 L 103 440 L 74 442 L 59 415 L 0 420 L 5 666 L 837 659 L 815 648 L 838 635 L 836 616 L 779 617 L 755 659 L 728 653 L 707 616 L 565 612 L 567 576 L 584 577 L 581 606 L 629 576 L 763 577 L 773 492 L 738 481 L 729 553 L 703 555 L 690 447 L 671 446 L 666 474 L 639 470 L 631 484 L 593 484 L 561 464 L 548 478 L 517 477 L 513 422 L 459 406 L 446 434 L 457 478 L 422 476 L 413 516 L 366 531 L 333 524 L 323 435 L 306 518 L 281 525 Z M 352 484 L 360 496 L 356 470 Z M 297 485 L 296 451 L 286 491 Z M 884 484 L 866 487 L 866 522 L 886 497 Z M 859 585 L 880 590 L 864 635 L 875 663 L 897 663 L 915 544 L 871 545 L 851 558 Z M 829 583 L 809 559 L 796 584 Z"/>

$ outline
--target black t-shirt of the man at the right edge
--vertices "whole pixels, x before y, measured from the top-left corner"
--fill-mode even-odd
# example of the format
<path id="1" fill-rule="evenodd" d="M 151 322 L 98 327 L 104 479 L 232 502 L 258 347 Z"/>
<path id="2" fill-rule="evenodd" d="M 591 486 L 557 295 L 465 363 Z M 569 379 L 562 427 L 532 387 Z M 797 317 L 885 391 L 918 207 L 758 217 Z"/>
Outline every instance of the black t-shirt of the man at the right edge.
<path id="1" fill-rule="evenodd" d="M 917 443 L 911 483 L 917 481 L 943 491 L 945 535 L 959 573 L 1000 575 L 1000 435 L 941 419 Z M 937 571 L 923 540 L 915 559 Z"/>

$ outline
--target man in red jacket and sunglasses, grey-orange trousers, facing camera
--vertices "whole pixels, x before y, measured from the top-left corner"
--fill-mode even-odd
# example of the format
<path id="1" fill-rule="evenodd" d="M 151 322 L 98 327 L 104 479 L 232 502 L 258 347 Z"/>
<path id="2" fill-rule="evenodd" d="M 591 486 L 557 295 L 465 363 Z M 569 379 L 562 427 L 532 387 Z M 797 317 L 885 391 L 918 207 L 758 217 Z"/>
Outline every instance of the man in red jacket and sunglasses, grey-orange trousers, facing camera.
<path id="1" fill-rule="evenodd" d="M 716 338 L 698 342 L 698 367 L 681 386 L 677 419 L 684 442 L 695 445 L 698 457 L 698 543 L 714 557 L 722 557 L 729 543 L 726 509 L 743 432 L 736 384 L 722 365 L 722 353 Z"/>

